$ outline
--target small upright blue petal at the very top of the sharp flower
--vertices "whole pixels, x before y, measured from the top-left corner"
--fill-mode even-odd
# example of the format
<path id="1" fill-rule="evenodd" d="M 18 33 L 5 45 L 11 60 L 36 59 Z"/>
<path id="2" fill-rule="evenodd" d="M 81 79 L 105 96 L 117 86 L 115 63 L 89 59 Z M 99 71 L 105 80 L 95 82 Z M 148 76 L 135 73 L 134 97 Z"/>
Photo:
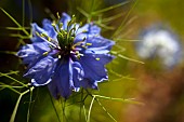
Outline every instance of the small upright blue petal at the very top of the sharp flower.
<path id="1" fill-rule="evenodd" d="M 71 17 L 67 13 L 63 13 L 62 14 L 62 18 L 61 18 L 60 23 L 63 23 L 63 29 L 64 30 L 67 29 L 67 25 L 68 25 L 68 22 L 70 19 L 71 19 Z"/>

